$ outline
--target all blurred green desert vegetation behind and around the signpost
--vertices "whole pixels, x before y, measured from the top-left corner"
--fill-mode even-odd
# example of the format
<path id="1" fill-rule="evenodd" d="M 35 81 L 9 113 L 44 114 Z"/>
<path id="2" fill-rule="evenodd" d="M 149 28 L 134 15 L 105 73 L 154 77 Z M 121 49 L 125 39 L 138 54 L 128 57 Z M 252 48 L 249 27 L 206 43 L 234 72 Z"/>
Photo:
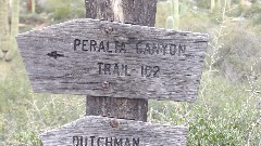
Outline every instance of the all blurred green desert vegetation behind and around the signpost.
<path id="1" fill-rule="evenodd" d="M 149 102 L 149 121 L 189 128 L 187 145 L 261 145 L 261 1 L 159 0 L 156 27 L 210 35 L 196 103 Z M 85 96 L 32 91 L 15 35 L 85 17 L 84 0 L 0 0 L 0 146 L 85 115 Z"/>

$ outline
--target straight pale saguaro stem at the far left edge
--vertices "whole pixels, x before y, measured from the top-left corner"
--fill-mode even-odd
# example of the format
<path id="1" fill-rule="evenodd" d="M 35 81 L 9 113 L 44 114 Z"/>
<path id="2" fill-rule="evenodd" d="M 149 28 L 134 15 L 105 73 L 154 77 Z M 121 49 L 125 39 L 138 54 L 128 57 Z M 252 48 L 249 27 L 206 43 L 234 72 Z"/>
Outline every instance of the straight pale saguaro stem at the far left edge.
<path id="1" fill-rule="evenodd" d="M 2 53 L 7 53 L 9 51 L 10 31 L 8 8 L 8 0 L 0 0 L 0 51 L 2 51 Z"/>

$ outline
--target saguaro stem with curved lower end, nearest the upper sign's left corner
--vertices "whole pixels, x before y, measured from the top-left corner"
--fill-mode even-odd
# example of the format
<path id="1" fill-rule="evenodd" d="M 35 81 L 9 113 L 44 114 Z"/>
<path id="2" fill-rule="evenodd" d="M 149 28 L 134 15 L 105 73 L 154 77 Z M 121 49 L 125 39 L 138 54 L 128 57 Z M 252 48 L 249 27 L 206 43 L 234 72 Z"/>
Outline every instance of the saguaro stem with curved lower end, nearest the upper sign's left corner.
<path id="1" fill-rule="evenodd" d="M 18 11 L 20 11 L 18 3 L 20 0 L 12 0 L 11 44 L 9 52 L 4 56 L 5 61 L 11 61 L 14 56 L 14 53 L 17 50 L 15 36 L 18 34 Z"/>

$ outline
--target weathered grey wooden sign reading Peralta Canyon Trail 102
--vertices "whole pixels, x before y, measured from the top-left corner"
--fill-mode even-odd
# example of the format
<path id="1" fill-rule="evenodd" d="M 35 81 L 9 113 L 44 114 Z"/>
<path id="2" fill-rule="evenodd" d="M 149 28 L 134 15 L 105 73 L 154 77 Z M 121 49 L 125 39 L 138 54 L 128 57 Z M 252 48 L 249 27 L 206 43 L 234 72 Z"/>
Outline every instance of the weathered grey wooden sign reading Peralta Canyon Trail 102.
<path id="1" fill-rule="evenodd" d="M 192 102 L 208 36 L 76 19 L 16 37 L 35 92 Z"/>

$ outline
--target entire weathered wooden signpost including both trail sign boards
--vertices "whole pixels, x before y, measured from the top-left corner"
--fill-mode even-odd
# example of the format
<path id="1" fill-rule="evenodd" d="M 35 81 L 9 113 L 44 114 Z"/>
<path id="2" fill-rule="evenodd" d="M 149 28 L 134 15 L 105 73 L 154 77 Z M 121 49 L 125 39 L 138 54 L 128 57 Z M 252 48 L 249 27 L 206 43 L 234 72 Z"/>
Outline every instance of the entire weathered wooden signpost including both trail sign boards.
<path id="1" fill-rule="evenodd" d="M 90 12 L 105 4 L 88 2 Z M 137 3 L 132 8 L 141 13 Z M 98 12 L 94 17 L 116 17 Z M 135 23 L 134 16 L 122 22 Z M 44 145 L 185 145 L 186 128 L 137 120 L 147 120 L 148 98 L 196 101 L 208 35 L 109 21 L 75 19 L 16 37 L 35 92 L 89 95 L 92 116 L 44 133 Z"/>

